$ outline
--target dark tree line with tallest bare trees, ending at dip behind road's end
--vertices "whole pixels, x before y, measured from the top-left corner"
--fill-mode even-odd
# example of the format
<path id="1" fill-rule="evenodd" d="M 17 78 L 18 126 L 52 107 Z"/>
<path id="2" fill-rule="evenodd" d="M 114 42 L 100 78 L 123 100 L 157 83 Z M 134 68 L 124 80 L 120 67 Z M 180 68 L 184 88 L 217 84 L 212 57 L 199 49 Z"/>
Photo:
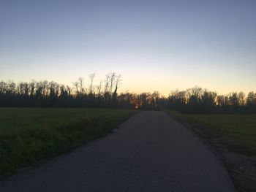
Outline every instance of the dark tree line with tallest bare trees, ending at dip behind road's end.
<path id="1" fill-rule="evenodd" d="M 104 81 L 94 85 L 95 74 L 82 77 L 72 86 L 57 82 L 0 82 L 0 107 L 91 107 L 154 109 L 159 93 L 118 93 L 121 75 L 108 73 Z"/>

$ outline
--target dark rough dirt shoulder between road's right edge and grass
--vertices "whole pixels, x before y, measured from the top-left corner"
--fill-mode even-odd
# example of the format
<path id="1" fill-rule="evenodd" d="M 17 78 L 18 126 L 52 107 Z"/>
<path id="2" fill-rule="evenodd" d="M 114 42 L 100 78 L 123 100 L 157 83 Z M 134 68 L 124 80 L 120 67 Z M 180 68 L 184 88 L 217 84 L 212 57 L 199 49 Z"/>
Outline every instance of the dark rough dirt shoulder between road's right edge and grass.
<path id="1" fill-rule="evenodd" d="M 223 162 L 227 172 L 233 180 L 237 191 L 256 191 L 256 161 L 249 155 L 243 155 L 224 145 L 218 139 L 213 139 L 208 134 L 200 131 L 200 128 L 187 123 L 186 120 L 165 111 L 171 118 L 178 120 L 189 128 L 207 145 Z"/>

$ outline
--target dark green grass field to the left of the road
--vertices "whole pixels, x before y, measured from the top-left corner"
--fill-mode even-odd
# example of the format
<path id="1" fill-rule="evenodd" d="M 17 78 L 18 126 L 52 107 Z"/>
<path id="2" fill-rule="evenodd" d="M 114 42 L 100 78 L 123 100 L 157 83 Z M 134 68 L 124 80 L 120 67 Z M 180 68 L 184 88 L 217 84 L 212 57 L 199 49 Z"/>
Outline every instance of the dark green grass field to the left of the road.
<path id="1" fill-rule="evenodd" d="M 0 108 L 0 175 L 108 133 L 135 110 Z"/>

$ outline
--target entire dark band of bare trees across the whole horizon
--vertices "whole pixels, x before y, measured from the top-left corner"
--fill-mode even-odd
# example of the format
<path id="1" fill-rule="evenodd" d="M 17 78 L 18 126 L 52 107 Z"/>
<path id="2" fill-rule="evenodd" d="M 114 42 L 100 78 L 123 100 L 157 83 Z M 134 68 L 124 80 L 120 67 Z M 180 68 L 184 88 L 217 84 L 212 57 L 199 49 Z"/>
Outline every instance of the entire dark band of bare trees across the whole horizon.
<path id="1" fill-rule="evenodd" d="M 104 81 L 94 85 L 80 77 L 72 86 L 57 82 L 0 82 L 0 107 L 102 107 L 138 110 L 172 109 L 180 112 L 256 112 L 256 93 L 233 92 L 219 95 L 194 87 L 171 91 L 170 95 L 154 93 L 118 93 L 121 75 L 108 73 Z M 86 85 L 87 83 L 87 85 Z"/>

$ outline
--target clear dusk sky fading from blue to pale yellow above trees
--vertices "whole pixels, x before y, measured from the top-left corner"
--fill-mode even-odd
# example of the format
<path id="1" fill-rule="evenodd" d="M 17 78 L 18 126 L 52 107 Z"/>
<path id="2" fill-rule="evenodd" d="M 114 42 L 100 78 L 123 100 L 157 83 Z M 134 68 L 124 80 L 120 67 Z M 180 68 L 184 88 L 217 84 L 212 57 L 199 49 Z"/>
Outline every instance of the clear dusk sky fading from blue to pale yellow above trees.
<path id="1" fill-rule="evenodd" d="M 256 91 L 256 1 L 0 0 L 0 81 Z"/>

